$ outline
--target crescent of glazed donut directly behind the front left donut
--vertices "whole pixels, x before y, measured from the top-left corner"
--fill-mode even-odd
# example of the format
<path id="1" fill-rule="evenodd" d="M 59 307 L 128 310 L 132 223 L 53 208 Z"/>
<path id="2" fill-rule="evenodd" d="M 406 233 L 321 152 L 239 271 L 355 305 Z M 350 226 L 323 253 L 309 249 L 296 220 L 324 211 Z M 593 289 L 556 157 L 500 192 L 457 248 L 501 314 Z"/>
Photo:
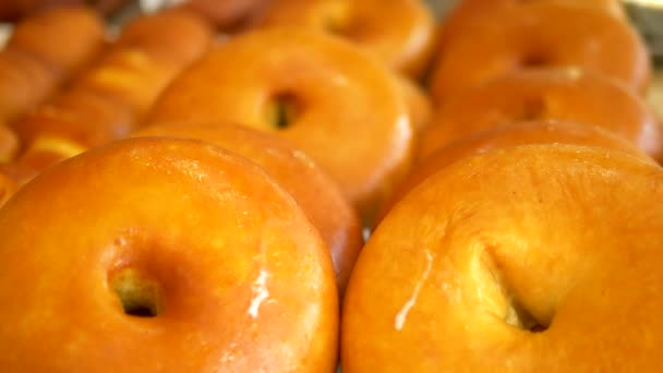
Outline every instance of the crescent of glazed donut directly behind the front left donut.
<path id="1" fill-rule="evenodd" d="M 363 246 L 361 221 L 336 183 L 305 154 L 277 136 L 243 125 L 162 124 L 146 128 L 134 136 L 207 141 L 261 166 L 294 197 L 320 231 L 332 253 L 342 296 Z"/>

